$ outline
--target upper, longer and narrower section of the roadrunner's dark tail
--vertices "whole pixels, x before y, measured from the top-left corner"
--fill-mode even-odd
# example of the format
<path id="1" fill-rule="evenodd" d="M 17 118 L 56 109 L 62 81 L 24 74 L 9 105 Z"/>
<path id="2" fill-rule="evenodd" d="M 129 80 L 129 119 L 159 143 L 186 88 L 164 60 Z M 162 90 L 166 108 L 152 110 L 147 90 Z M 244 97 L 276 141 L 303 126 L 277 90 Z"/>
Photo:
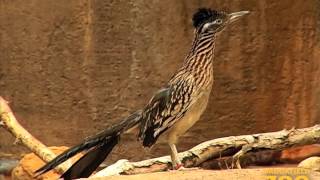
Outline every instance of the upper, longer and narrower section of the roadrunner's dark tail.
<path id="1" fill-rule="evenodd" d="M 63 152 L 62 154 L 60 154 L 56 158 L 54 158 L 52 161 L 48 162 L 46 165 L 44 165 L 43 167 L 38 169 L 35 172 L 36 176 L 39 176 L 43 173 L 46 173 L 46 172 L 52 170 L 53 168 L 55 168 L 59 164 L 63 163 L 64 161 L 68 160 L 69 158 L 73 157 L 74 155 L 76 155 L 82 151 L 89 150 L 86 153 L 86 155 L 84 155 L 84 157 L 83 157 L 84 159 L 86 159 L 85 156 L 88 156 L 89 159 L 93 158 L 96 153 L 100 152 L 100 150 L 111 151 L 112 148 L 117 144 L 117 143 L 115 143 L 114 145 L 112 144 L 115 142 L 115 139 L 118 139 L 120 137 L 120 135 L 122 134 L 122 132 L 132 128 L 133 126 L 137 125 L 141 121 L 141 112 L 142 112 L 141 110 L 136 111 L 135 113 L 131 114 L 127 118 L 123 119 L 118 124 L 116 124 L 112 127 L 109 127 L 107 129 L 101 131 L 100 133 L 96 134 L 95 136 L 87 138 L 83 143 L 78 144 L 78 145 L 66 150 L 65 152 Z M 111 149 L 109 147 L 106 147 L 107 145 L 110 145 Z M 93 147 L 96 147 L 96 148 L 93 148 Z M 90 155 L 87 155 L 88 153 L 89 154 L 93 153 L 92 157 Z M 104 154 L 105 157 L 109 153 L 105 153 Z M 81 159 L 82 158 L 80 158 L 80 160 Z M 83 160 L 82 162 L 86 162 L 86 161 Z M 76 164 L 77 164 L 77 162 L 76 162 Z M 81 164 L 82 163 L 80 163 L 80 165 Z M 76 166 L 76 167 L 78 167 L 78 166 Z"/>

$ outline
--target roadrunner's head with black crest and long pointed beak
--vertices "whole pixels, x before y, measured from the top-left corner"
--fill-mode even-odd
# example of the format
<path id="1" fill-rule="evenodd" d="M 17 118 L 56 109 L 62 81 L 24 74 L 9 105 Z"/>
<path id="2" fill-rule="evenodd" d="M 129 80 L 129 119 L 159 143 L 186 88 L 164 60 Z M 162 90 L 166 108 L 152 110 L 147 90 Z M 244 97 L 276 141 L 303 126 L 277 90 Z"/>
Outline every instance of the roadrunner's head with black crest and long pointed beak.
<path id="1" fill-rule="evenodd" d="M 193 26 L 199 33 L 218 33 L 228 24 L 248 13 L 249 11 L 240 11 L 228 14 L 222 11 L 201 8 L 193 15 L 192 21 Z"/>

